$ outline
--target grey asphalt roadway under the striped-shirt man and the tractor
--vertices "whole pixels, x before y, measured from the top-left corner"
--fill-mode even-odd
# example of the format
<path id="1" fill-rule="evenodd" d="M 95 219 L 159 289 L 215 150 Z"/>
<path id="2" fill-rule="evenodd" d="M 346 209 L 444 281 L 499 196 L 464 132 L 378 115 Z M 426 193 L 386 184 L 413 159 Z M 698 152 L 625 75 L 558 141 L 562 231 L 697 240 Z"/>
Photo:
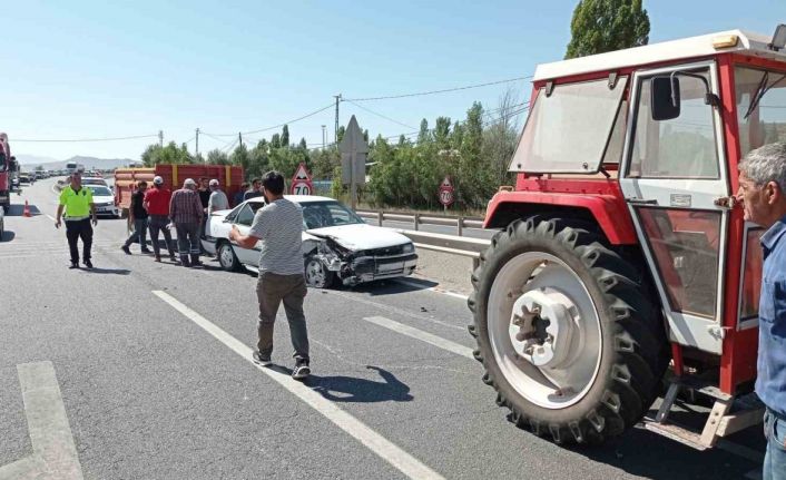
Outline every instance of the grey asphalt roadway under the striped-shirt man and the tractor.
<path id="1" fill-rule="evenodd" d="M 36 452 L 18 366 L 36 362 L 53 366 L 86 479 L 738 479 L 758 467 L 640 428 L 595 449 L 514 428 L 464 355 L 465 302 L 430 282 L 310 291 L 304 388 L 285 376 L 285 323 L 278 366 L 243 356 L 253 275 L 156 264 L 136 246 L 127 256 L 114 219 L 96 228 L 96 268 L 68 270 L 52 184 L 14 198 L 36 215 L 12 207 L 0 243 L 0 474 Z"/>

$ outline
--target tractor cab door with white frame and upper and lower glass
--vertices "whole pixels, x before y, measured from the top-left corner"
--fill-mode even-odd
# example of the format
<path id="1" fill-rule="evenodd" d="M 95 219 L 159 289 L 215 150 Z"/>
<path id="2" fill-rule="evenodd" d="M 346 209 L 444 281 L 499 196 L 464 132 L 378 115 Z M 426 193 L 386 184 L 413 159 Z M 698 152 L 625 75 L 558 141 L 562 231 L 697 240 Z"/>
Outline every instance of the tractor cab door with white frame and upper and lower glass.
<path id="1" fill-rule="evenodd" d="M 654 77 L 679 78 L 677 118 L 655 120 Z M 671 340 L 721 353 L 729 183 L 714 61 L 635 76 L 620 186 L 656 281 Z M 717 203 L 717 205 L 716 205 Z"/>

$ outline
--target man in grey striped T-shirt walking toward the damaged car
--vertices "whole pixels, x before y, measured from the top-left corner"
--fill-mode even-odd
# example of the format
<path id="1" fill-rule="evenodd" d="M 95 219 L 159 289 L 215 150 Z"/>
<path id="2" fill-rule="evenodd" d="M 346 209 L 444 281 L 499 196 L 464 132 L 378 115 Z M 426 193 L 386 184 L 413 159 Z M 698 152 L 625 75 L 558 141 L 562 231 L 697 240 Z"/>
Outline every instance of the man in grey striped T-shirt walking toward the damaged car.
<path id="1" fill-rule="evenodd" d="M 279 173 L 265 174 L 262 186 L 267 205 L 256 212 L 248 235 L 240 234 L 235 226 L 229 232 L 229 239 L 243 248 L 253 248 L 262 241 L 256 285 L 259 302 L 258 350 L 254 352 L 254 360 L 263 366 L 272 363 L 273 324 L 283 302 L 295 349 L 292 378 L 302 380 L 311 373 L 308 332 L 303 314 L 307 292 L 301 252 L 303 210 L 299 205 L 284 198 L 284 177 Z"/>

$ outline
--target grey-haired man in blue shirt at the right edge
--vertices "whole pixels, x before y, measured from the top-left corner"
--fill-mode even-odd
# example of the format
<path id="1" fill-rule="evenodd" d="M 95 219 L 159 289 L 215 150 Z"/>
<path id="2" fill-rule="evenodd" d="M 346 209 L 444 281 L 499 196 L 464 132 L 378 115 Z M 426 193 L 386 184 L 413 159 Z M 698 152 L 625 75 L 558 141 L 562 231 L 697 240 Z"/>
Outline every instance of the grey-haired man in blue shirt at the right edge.
<path id="1" fill-rule="evenodd" d="M 739 165 L 745 219 L 762 235 L 764 275 L 759 297 L 756 393 L 766 406 L 764 480 L 786 480 L 786 143 L 751 150 Z"/>

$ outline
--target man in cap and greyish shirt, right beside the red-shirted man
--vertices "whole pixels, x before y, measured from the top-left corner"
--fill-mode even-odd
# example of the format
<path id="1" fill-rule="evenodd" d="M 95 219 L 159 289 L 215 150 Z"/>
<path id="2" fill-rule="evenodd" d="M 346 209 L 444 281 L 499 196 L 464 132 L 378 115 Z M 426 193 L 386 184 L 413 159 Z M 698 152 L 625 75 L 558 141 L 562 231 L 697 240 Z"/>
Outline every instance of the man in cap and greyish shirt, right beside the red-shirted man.
<path id="1" fill-rule="evenodd" d="M 199 227 L 204 213 L 196 188 L 196 182 L 193 178 L 186 178 L 183 188 L 171 194 L 171 200 L 169 200 L 169 218 L 177 231 L 177 251 L 183 266 L 202 265 Z"/>

